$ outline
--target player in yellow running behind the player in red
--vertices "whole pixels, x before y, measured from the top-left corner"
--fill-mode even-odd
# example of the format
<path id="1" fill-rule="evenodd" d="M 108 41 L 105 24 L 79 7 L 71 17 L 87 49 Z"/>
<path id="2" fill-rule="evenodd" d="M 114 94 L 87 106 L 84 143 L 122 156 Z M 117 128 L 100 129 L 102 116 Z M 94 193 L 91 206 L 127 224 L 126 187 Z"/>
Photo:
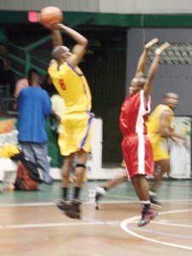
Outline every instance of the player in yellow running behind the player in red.
<path id="1" fill-rule="evenodd" d="M 161 166 L 159 172 L 155 175 L 154 182 L 150 186 L 150 202 L 156 206 L 161 204 L 156 201 L 156 189 L 161 183 L 165 173 L 170 172 L 170 156 L 168 153 L 167 137 L 170 137 L 174 142 L 184 138 L 182 135 L 172 131 L 171 121 L 174 117 L 174 109 L 178 106 L 178 95 L 172 92 L 167 92 L 163 96 L 163 104 L 158 105 L 150 114 L 146 122 L 147 136 L 150 138 L 150 143 L 153 148 L 153 157 L 157 164 Z"/>

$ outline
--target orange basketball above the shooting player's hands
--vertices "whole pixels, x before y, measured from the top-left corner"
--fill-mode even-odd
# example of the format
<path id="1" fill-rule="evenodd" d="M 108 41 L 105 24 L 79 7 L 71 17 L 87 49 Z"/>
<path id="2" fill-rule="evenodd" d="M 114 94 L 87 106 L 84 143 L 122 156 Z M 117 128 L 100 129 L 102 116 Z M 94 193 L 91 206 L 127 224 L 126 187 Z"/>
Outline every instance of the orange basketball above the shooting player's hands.
<path id="1" fill-rule="evenodd" d="M 62 23 L 63 13 L 62 11 L 54 6 L 48 6 L 40 11 L 40 23 L 46 28 L 53 24 Z"/>

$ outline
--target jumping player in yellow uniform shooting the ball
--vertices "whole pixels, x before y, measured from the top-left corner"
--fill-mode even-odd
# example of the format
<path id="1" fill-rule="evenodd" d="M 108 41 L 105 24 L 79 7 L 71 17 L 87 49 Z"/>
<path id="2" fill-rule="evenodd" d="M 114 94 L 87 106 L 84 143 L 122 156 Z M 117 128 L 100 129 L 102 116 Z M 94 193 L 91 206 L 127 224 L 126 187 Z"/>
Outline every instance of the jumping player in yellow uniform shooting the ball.
<path id="1" fill-rule="evenodd" d="M 61 33 L 65 32 L 76 41 L 72 50 L 63 46 Z M 88 82 L 78 67 L 85 54 L 88 40 L 80 33 L 63 24 L 52 27 L 54 49 L 53 59 L 48 67 L 48 73 L 59 95 L 65 100 L 64 115 L 61 119 L 63 131 L 59 134 L 60 154 L 65 156 L 62 167 L 63 199 L 56 201 L 56 207 L 65 212 L 70 218 L 80 218 L 79 201 L 80 189 L 87 161 L 91 151 L 93 113 L 90 113 L 92 102 Z M 76 180 L 74 195 L 68 200 L 68 179 L 74 154 L 78 154 L 76 164 Z"/>

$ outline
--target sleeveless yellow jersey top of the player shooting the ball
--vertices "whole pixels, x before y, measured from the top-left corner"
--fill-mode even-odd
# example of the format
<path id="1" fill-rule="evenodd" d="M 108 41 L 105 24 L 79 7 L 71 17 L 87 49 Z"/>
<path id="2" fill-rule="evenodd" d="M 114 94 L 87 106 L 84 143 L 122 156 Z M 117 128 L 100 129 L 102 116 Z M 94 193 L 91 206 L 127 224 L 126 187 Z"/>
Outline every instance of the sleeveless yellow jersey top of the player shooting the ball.
<path id="1" fill-rule="evenodd" d="M 67 62 L 58 66 L 52 61 L 48 73 L 58 90 L 59 95 L 65 100 L 64 113 L 81 113 L 90 111 L 91 93 L 88 82 L 79 67 L 71 67 Z"/>

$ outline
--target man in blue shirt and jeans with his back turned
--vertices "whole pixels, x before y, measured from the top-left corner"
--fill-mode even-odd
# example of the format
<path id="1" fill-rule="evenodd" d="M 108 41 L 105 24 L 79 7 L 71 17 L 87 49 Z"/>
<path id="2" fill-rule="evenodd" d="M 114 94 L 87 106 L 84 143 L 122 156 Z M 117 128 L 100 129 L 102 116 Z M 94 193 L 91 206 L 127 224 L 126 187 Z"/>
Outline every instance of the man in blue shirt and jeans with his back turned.
<path id="1" fill-rule="evenodd" d="M 52 112 L 52 104 L 46 90 L 40 86 L 40 75 L 35 69 L 28 73 L 29 87 L 20 90 L 18 96 L 19 141 L 25 158 L 42 170 L 44 183 L 53 183 L 49 175 L 48 135 L 46 117 Z"/>

